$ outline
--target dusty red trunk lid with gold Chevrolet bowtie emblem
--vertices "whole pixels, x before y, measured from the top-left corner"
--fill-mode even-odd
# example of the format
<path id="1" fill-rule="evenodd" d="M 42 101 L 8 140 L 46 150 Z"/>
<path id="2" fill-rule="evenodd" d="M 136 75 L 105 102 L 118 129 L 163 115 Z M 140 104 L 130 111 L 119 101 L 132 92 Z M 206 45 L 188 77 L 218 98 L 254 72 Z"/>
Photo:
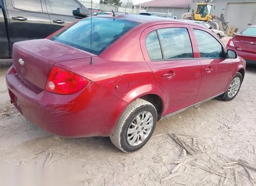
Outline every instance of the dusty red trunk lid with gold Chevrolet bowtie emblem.
<path id="1" fill-rule="evenodd" d="M 55 63 L 90 57 L 90 53 L 47 39 L 18 42 L 12 59 L 16 75 L 26 85 L 41 92 Z"/>

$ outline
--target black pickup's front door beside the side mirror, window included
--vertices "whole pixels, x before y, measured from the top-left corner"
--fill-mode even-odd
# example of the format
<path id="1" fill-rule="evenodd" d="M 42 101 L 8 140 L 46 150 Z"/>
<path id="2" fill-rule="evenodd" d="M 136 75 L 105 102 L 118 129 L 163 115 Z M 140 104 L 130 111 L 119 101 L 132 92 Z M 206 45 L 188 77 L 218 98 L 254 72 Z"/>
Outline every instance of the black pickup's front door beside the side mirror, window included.
<path id="1" fill-rule="evenodd" d="M 73 10 L 82 8 L 76 0 L 46 0 L 46 6 L 50 16 L 52 33 L 78 20 L 73 16 Z"/>

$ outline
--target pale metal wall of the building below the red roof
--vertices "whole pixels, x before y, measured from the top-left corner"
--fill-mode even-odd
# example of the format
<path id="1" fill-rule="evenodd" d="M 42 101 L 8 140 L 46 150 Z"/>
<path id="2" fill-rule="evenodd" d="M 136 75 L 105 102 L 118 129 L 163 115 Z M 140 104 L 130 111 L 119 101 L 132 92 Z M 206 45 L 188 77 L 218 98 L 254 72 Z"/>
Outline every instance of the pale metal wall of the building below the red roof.
<path id="1" fill-rule="evenodd" d="M 180 19 L 182 14 L 188 12 L 188 8 L 148 7 L 146 9 L 148 12 L 159 12 L 177 16 L 177 19 Z"/>

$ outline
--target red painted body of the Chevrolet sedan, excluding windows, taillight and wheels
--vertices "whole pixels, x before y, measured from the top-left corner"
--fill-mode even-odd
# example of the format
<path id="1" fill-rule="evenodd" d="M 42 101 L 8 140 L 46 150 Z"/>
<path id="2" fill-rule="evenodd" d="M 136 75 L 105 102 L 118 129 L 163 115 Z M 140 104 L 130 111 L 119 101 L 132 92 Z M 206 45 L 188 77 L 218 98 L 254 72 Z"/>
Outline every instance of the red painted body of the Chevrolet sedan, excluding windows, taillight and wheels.
<path id="1" fill-rule="evenodd" d="M 47 39 L 14 45 L 15 69 L 10 67 L 6 82 L 12 102 L 29 121 L 60 136 L 109 136 L 126 107 L 143 95 L 156 94 L 162 99 L 161 116 L 164 117 L 226 91 L 234 74 L 245 69 L 244 60 L 239 57 L 199 59 L 190 23 L 152 16 L 121 15 L 116 18 L 142 24 L 101 55 L 92 55 L 92 65 L 90 53 Z M 194 59 L 151 62 L 145 46 L 147 34 L 159 28 L 180 26 L 188 29 Z M 211 34 L 202 27 L 198 29 Z M 23 67 L 18 63 L 19 58 L 26 63 Z M 85 77 L 90 83 L 72 95 L 45 91 L 53 66 Z M 212 67 L 214 73 L 206 73 L 207 67 Z M 176 73 L 172 79 L 162 77 L 171 72 Z"/>

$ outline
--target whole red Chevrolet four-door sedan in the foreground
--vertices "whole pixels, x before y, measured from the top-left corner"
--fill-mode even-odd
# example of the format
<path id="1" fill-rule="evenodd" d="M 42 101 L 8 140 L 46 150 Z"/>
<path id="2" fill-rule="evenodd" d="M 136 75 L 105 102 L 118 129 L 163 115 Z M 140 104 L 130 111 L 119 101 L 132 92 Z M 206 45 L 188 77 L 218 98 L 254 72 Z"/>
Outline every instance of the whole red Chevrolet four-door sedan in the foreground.
<path id="1" fill-rule="evenodd" d="M 157 121 L 215 97 L 234 99 L 244 73 L 244 59 L 207 28 L 118 15 L 15 43 L 6 81 L 11 102 L 43 130 L 110 136 L 117 148 L 133 152 Z"/>

